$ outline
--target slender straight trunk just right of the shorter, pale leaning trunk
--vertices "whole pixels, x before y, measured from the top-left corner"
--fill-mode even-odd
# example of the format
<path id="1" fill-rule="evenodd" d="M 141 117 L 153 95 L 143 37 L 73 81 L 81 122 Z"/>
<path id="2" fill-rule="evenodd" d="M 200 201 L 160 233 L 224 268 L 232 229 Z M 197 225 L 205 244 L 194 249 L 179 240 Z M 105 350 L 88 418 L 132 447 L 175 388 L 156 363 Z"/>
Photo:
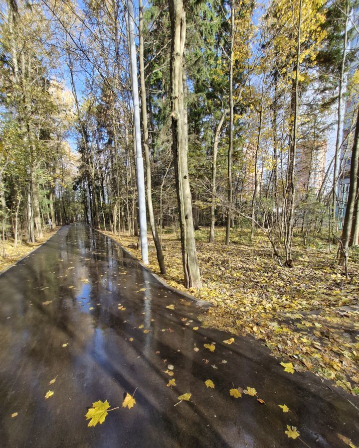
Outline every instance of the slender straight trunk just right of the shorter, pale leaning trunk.
<path id="1" fill-rule="evenodd" d="M 232 152 L 233 152 L 233 47 L 234 47 L 234 0 L 231 2 L 231 45 L 229 54 L 229 145 L 228 145 L 228 212 L 226 223 L 225 243 L 229 244 L 230 226 L 232 219 Z"/>

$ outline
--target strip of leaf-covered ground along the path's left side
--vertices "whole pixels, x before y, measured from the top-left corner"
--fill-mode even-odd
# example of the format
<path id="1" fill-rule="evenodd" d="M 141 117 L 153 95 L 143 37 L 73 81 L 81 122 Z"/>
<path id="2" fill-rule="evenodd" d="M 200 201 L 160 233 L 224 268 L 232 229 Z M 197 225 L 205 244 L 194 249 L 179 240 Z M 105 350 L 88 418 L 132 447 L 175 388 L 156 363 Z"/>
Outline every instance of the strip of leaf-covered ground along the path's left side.
<path id="1" fill-rule="evenodd" d="M 17 247 L 14 247 L 14 240 L 12 238 L 5 239 L 4 241 L 0 239 L 0 273 L 11 266 L 11 264 L 16 263 L 19 259 L 24 257 L 26 254 L 36 249 L 36 247 L 43 244 L 46 240 L 48 240 L 58 229 L 59 227 L 55 227 L 54 230 L 44 231 L 42 238 L 37 238 L 35 243 L 27 243 L 26 241 L 22 241 L 21 244 L 17 244 Z"/>

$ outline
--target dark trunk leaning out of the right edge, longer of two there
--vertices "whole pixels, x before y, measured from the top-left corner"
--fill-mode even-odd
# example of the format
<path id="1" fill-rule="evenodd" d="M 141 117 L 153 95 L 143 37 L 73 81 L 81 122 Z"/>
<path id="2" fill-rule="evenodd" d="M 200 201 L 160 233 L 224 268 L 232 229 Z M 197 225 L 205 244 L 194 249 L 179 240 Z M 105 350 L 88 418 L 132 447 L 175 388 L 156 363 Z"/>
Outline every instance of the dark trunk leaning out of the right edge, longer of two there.
<path id="1" fill-rule="evenodd" d="M 350 241 L 350 234 L 352 229 L 352 221 L 354 216 L 354 208 L 356 202 L 356 193 L 358 186 L 359 176 L 359 108 L 357 112 L 357 124 L 354 134 L 354 143 L 351 157 L 351 170 L 350 170 L 350 184 L 348 193 L 347 209 L 344 218 L 342 238 L 339 244 L 339 263 L 341 266 L 346 265 L 348 260 L 348 248 Z"/>

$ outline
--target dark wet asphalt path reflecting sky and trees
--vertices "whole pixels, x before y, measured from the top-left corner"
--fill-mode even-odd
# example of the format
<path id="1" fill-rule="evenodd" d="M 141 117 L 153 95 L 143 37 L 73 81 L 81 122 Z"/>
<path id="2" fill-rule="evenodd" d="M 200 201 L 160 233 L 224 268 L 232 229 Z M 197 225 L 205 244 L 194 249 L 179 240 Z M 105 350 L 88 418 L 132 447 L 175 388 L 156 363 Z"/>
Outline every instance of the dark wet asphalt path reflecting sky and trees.
<path id="1" fill-rule="evenodd" d="M 284 372 L 260 341 L 224 344 L 231 336 L 202 329 L 201 312 L 110 238 L 62 227 L 0 275 L 0 447 L 346 447 L 338 434 L 359 445 L 358 399 Z M 213 353 L 203 347 L 212 342 Z M 265 404 L 231 397 L 233 385 Z M 136 405 L 122 408 L 135 389 Z M 120 409 L 88 428 L 97 400 Z"/>

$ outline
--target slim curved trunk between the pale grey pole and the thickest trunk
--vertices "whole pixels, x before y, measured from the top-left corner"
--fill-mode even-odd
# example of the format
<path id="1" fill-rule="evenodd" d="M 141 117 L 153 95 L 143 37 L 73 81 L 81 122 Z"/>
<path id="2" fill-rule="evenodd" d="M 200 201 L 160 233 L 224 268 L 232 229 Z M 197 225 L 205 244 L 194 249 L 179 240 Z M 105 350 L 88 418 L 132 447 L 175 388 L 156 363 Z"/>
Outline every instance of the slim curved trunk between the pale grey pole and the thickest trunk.
<path id="1" fill-rule="evenodd" d="M 159 263 L 161 274 L 166 274 L 165 257 L 162 252 L 162 245 L 157 232 L 157 225 L 152 204 L 152 178 L 151 178 L 151 160 L 149 151 L 149 136 L 148 136 L 148 119 L 147 119 L 147 101 L 146 101 L 146 84 L 145 84 L 145 64 L 144 64 L 144 38 L 143 38 L 143 3 L 139 0 L 140 20 L 139 20 L 139 34 L 140 34 L 140 82 L 141 82 L 141 105 L 142 105 L 142 126 L 144 132 L 144 150 L 146 161 L 146 186 L 147 186 L 147 206 L 149 211 L 150 225 L 152 236 L 154 239 L 157 260 Z"/>

